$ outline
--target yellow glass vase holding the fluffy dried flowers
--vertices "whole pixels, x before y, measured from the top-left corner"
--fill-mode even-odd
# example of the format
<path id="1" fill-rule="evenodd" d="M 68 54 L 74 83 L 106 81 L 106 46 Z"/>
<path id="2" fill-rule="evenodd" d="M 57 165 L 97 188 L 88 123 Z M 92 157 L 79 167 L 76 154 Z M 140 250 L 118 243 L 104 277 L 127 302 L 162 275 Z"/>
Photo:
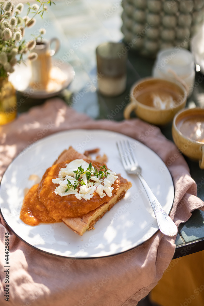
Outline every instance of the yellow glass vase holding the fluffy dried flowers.
<path id="1" fill-rule="evenodd" d="M 17 115 L 16 90 L 8 78 L 0 78 L 0 125 L 4 125 Z"/>

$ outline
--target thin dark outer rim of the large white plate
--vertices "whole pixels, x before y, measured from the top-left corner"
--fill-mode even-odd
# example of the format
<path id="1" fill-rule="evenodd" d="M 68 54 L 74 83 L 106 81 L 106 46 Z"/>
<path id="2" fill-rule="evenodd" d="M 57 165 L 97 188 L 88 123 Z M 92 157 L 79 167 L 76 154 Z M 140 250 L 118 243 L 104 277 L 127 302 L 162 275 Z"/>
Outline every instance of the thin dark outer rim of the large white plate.
<path id="1" fill-rule="evenodd" d="M 58 131 L 58 132 L 54 132 L 48 136 L 45 136 L 41 139 L 38 139 L 35 141 L 35 143 L 32 144 L 32 147 L 35 146 L 36 144 L 40 143 L 40 142 L 43 142 L 44 139 L 48 139 L 48 138 L 51 138 L 52 136 L 56 135 L 56 134 L 61 134 L 61 133 L 66 133 L 66 132 L 80 132 L 80 131 L 93 131 L 93 132 L 111 132 L 111 133 L 114 133 L 114 134 L 118 134 L 118 135 L 122 135 L 122 136 L 125 136 L 125 137 L 129 137 L 129 138 L 132 138 L 132 140 L 135 140 L 135 141 L 138 141 L 140 144 L 144 145 L 145 147 L 147 147 L 149 150 L 151 150 L 154 154 L 156 154 L 158 156 L 158 158 L 165 164 L 165 162 L 161 159 L 161 157 L 154 151 L 152 150 L 150 147 L 148 147 L 146 144 L 143 144 L 141 141 L 131 137 L 131 136 L 128 136 L 128 135 L 125 135 L 125 134 L 122 134 L 120 132 L 115 132 L 115 131 L 112 131 L 112 130 L 106 130 L 106 129 L 68 129 L 68 130 L 62 130 L 62 131 Z M 6 173 L 6 171 L 8 170 L 8 168 L 12 165 L 12 163 L 14 162 L 15 159 L 18 158 L 18 156 L 24 151 L 26 150 L 28 147 L 30 147 L 30 145 L 28 145 L 27 147 L 25 147 L 22 151 L 20 151 L 17 156 L 9 163 L 9 165 L 6 167 L 6 170 L 4 171 L 4 174 L 2 175 L 2 179 Z M 172 207 L 173 207 L 173 203 L 174 203 L 174 199 L 175 199 L 175 185 L 174 185 L 174 181 L 173 181 L 173 177 L 172 177 L 172 174 L 171 172 L 169 171 L 169 168 L 167 167 L 167 170 L 170 174 L 170 177 L 171 177 L 171 180 L 172 180 L 172 186 L 173 186 L 173 200 L 172 200 L 172 205 L 171 205 L 171 208 L 169 210 L 169 213 L 168 215 L 170 215 L 171 211 L 172 211 Z M 2 185 L 2 179 L 0 181 L 0 191 L 1 191 L 1 185 Z M 143 243 L 149 241 L 157 232 L 159 232 L 159 228 L 156 229 L 154 231 L 154 233 L 151 234 L 151 236 L 149 238 L 147 238 L 145 241 L 142 241 L 141 243 L 137 244 L 136 246 L 132 247 L 132 248 L 128 248 L 127 250 L 125 251 L 120 251 L 118 253 L 114 253 L 114 254 L 109 254 L 109 255 L 103 255 L 103 256 L 89 256 L 89 257 L 76 257 L 76 256 L 63 256 L 63 255 L 59 255 L 59 254 L 54 254 L 52 252 L 48 252 L 48 251 L 45 251 L 45 250 L 42 250 L 38 247 L 36 247 L 35 245 L 32 245 L 30 243 L 28 243 L 27 241 L 25 241 L 23 238 L 21 238 L 10 226 L 9 224 L 6 222 L 5 218 L 4 218 L 4 215 L 2 214 L 2 209 L 1 209 L 1 204 L 0 204 L 0 213 L 1 213 L 1 216 L 4 220 L 4 222 L 6 223 L 6 226 L 9 227 L 9 229 L 21 240 L 23 241 L 25 244 L 27 244 L 28 246 L 34 248 L 35 250 L 37 251 L 40 251 L 40 252 L 43 252 L 47 255 L 50 255 L 50 256 L 55 256 L 55 257 L 60 257 L 60 258 L 68 258 L 68 259 L 74 259 L 74 260 L 84 260 L 84 259 L 99 259 L 99 258 L 106 258 L 106 257 L 112 257 L 112 256 L 117 256 L 117 255 L 120 255 L 120 254 L 123 254 L 123 253 L 126 253 L 128 251 L 131 251 L 133 250 L 134 248 L 137 248 L 138 246 L 142 245 Z M 55 222 L 55 223 L 59 223 L 59 222 Z M 165 235 L 164 235 L 165 236 Z M 168 236 L 167 236 L 168 237 Z"/>

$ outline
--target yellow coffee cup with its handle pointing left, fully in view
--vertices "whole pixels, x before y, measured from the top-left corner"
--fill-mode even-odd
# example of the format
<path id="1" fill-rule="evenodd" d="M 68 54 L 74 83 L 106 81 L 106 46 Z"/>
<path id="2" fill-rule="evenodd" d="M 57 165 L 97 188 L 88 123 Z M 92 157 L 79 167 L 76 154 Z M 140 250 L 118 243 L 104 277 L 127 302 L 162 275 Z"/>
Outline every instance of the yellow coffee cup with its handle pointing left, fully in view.
<path id="1" fill-rule="evenodd" d="M 129 119 L 134 110 L 137 117 L 155 125 L 166 125 L 185 107 L 187 92 L 175 81 L 148 77 L 135 83 L 130 91 L 131 102 L 124 110 Z"/>

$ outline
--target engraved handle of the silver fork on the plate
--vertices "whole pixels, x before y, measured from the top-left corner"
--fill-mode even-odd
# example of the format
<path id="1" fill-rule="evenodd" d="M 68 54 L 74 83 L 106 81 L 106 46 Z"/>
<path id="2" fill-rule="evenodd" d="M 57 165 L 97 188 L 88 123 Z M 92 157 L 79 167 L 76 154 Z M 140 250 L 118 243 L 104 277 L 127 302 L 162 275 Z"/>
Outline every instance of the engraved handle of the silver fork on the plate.
<path id="1" fill-rule="evenodd" d="M 177 226 L 176 224 L 172 221 L 172 219 L 169 217 L 169 215 L 164 211 L 164 209 L 161 207 L 161 204 L 155 197 L 154 193 L 151 191 L 149 185 L 145 181 L 144 177 L 141 174 L 137 174 L 146 193 L 147 196 L 150 200 L 151 206 L 154 211 L 154 215 L 156 217 L 158 226 L 160 231 L 167 235 L 167 236 L 174 236 L 177 234 Z"/>

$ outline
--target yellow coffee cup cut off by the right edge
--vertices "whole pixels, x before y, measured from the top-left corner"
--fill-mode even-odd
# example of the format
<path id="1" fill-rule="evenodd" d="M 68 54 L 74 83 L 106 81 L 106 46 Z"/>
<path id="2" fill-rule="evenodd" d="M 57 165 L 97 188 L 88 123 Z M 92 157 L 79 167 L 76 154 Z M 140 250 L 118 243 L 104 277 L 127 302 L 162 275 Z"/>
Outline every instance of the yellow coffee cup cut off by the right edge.
<path id="1" fill-rule="evenodd" d="M 187 157 L 198 160 L 204 169 L 204 108 L 181 110 L 173 120 L 172 137 Z"/>

